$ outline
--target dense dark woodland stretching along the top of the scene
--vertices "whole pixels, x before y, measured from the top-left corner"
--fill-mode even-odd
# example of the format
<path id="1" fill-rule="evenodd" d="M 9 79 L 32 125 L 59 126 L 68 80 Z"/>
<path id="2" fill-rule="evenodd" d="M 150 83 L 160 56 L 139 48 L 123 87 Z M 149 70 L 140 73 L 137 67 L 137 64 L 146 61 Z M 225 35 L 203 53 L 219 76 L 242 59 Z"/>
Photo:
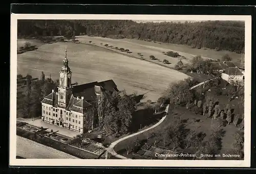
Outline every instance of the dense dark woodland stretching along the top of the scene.
<path id="1" fill-rule="evenodd" d="M 18 37 L 89 35 L 137 38 L 244 53 L 242 21 L 147 22 L 132 20 L 19 20 Z"/>

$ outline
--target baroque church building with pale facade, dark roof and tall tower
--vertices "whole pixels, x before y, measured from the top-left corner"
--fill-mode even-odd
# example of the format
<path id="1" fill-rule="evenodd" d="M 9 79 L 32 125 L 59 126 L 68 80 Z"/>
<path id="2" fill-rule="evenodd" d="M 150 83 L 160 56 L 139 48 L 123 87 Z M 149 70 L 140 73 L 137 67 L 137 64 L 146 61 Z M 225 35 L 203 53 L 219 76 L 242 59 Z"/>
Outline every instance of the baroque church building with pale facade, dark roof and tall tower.
<path id="1" fill-rule="evenodd" d="M 84 133 L 98 125 L 97 104 L 102 92 L 118 91 L 113 80 L 81 85 L 71 83 L 72 72 L 66 56 L 59 72 L 59 85 L 41 101 L 41 120 Z"/>

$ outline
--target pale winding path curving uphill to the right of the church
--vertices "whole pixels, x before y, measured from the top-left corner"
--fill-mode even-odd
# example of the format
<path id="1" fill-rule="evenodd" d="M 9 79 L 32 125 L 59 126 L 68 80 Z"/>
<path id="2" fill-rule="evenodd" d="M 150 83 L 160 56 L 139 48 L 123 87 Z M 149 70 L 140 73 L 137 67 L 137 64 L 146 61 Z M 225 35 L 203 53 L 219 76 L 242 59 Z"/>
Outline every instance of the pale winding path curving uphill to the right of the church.
<path id="1" fill-rule="evenodd" d="M 148 130 L 151 130 L 151 129 L 157 127 L 158 125 L 160 125 L 160 124 L 163 122 L 163 120 L 166 118 L 166 116 L 167 116 L 167 114 L 168 114 L 168 109 L 169 109 L 169 105 L 167 105 L 167 107 L 165 108 L 166 115 L 165 115 L 164 117 L 162 117 L 162 119 L 160 119 L 160 121 L 158 121 L 158 122 L 157 122 L 155 125 L 153 125 L 152 127 L 147 128 L 147 129 L 144 129 L 144 130 L 142 130 L 142 131 L 140 131 L 140 132 L 137 132 L 137 133 L 128 135 L 128 136 L 126 136 L 126 137 L 120 138 L 120 139 L 118 139 L 118 140 L 112 142 L 112 143 L 110 144 L 109 148 L 108 148 L 108 152 L 110 152 L 111 155 L 113 155 L 113 156 L 115 156 L 115 157 L 117 157 L 117 158 L 120 158 L 120 159 L 129 159 L 129 158 L 127 158 L 127 157 L 124 157 L 124 156 L 122 156 L 122 155 L 117 154 L 117 153 L 114 151 L 115 145 L 118 144 L 119 142 L 121 142 L 121 141 L 127 139 L 127 138 L 131 138 L 131 137 L 133 137 L 133 136 L 142 134 L 142 133 L 144 133 L 144 132 L 146 132 L 146 131 L 148 131 Z"/>

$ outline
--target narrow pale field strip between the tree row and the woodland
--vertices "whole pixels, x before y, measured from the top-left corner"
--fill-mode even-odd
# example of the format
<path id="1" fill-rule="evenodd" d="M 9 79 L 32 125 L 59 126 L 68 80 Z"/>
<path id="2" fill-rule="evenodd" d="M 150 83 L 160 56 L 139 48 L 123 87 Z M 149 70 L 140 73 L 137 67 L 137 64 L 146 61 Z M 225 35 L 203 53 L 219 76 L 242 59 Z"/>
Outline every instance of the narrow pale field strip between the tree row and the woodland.
<path id="1" fill-rule="evenodd" d="M 163 61 L 164 59 L 168 60 L 170 63 L 167 66 L 174 67 L 174 65 L 178 62 L 179 59 L 172 58 L 169 56 L 164 55 L 162 52 L 173 51 L 179 53 L 181 56 L 184 56 L 186 59 L 182 59 L 184 63 L 188 63 L 191 58 L 201 55 L 202 58 L 212 58 L 212 59 L 221 59 L 222 56 L 228 54 L 233 61 L 238 61 L 241 59 L 241 54 L 232 53 L 228 51 L 215 51 L 212 49 L 197 49 L 191 48 L 187 45 L 178 45 L 178 44 L 168 44 L 168 43 L 154 43 L 154 42 L 147 42 L 138 39 L 110 39 L 110 38 L 102 38 L 102 37 L 89 37 L 89 36 L 77 36 L 78 40 L 82 43 L 92 41 L 91 44 L 99 45 L 102 43 L 109 44 L 114 47 L 129 49 L 131 56 L 137 56 L 138 53 L 143 55 L 143 58 L 149 59 L 149 56 L 153 55 L 157 59 Z"/>

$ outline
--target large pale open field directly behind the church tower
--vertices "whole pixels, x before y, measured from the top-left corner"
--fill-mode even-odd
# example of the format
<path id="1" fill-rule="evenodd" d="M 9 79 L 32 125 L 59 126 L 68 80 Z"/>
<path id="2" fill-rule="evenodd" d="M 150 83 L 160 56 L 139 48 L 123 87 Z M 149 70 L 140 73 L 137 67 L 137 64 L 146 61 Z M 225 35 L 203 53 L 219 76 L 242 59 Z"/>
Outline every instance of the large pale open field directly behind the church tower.
<path id="1" fill-rule="evenodd" d="M 145 100 L 155 101 L 169 83 L 188 77 L 176 70 L 104 48 L 71 42 L 43 44 L 34 51 L 17 55 L 17 73 L 23 76 L 29 73 L 33 78 L 38 78 L 44 71 L 47 77 L 51 74 L 53 80 L 58 79 L 66 45 L 73 83 L 113 79 L 119 90 L 138 94 L 148 92 Z"/>

